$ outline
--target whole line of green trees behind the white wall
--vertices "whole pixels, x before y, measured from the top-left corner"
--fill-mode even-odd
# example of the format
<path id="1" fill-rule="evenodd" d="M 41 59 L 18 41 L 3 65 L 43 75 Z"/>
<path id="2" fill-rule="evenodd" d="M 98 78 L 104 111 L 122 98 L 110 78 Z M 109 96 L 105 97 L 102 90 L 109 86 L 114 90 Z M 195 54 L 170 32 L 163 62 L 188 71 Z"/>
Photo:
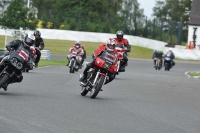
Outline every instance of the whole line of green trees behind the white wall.
<path id="1" fill-rule="evenodd" d="M 190 8 L 191 0 L 157 0 L 152 17 L 147 18 L 138 0 L 32 0 L 31 8 L 24 6 L 24 0 L 12 0 L 0 16 L 0 25 L 104 33 L 121 29 L 126 34 L 164 40 L 160 32 L 173 33 L 170 29 L 177 27 L 175 23 L 183 25 L 186 36 L 189 14 L 185 11 Z"/>

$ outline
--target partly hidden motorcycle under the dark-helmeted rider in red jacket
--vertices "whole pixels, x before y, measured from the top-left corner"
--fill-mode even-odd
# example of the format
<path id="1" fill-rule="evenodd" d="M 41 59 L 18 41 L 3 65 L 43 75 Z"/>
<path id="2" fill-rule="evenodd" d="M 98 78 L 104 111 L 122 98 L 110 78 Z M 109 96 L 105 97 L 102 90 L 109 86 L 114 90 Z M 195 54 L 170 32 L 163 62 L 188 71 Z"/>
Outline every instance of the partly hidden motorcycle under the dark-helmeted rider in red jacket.
<path id="1" fill-rule="evenodd" d="M 118 53 L 118 62 L 117 62 L 118 67 L 117 67 L 117 73 L 116 73 L 118 75 L 119 72 L 122 72 L 120 70 L 121 70 L 122 64 L 124 62 L 123 54 L 124 54 L 125 50 L 120 47 L 116 47 L 115 49 L 117 50 L 117 53 Z"/>

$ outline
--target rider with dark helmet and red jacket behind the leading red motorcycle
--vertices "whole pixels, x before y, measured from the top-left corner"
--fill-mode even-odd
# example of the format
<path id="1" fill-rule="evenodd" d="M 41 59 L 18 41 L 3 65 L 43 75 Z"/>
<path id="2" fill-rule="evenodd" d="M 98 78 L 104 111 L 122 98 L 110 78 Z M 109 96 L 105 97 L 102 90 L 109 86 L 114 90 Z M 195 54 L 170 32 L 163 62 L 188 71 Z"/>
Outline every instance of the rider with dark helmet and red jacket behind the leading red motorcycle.
<path id="1" fill-rule="evenodd" d="M 131 52 L 131 46 L 129 45 L 129 42 L 127 39 L 123 38 L 124 33 L 119 30 L 116 32 L 116 47 L 120 47 L 120 48 L 126 48 L 124 55 L 123 55 L 123 60 L 124 62 L 122 63 L 121 69 L 119 70 L 119 72 L 125 72 L 125 66 L 127 66 L 128 64 L 128 55 L 127 52 Z"/>

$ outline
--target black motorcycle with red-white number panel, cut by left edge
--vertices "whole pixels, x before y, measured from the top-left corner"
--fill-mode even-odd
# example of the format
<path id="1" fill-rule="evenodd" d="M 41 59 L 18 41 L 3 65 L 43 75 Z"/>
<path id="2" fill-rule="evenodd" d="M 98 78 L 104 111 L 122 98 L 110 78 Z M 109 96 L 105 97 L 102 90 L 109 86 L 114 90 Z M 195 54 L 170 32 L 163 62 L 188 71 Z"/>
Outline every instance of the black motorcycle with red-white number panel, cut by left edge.
<path id="1" fill-rule="evenodd" d="M 17 79 L 17 75 L 21 74 L 22 70 L 27 66 L 28 58 L 29 52 L 24 48 L 20 48 L 15 51 L 10 51 L 1 60 L 0 88 Z"/>

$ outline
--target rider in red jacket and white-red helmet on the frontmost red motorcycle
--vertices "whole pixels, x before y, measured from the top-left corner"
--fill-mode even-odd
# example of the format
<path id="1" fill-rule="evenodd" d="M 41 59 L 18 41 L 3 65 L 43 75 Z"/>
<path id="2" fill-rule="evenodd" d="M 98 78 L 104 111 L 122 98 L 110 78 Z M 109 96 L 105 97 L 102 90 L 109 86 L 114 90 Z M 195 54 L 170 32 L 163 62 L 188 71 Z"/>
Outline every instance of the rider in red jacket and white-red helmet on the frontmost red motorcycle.
<path id="1" fill-rule="evenodd" d="M 95 52 L 92 54 L 92 62 L 88 63 L 85 67 L 85 70 L 83 71 L 83 75 L 80 77 L 79 81 L 80 82 L 83 82 L 86 80 L 87 78 L 87 71 L 90 69 L 90 68 L 93 68 L 94 67 L 94 62 L 96 60 L 96 58 L 98 56 L 101 55 L 101 53 L 104 51 L 104 50 L 108 50 L 110 53 L 112 53 L 115 57 L 116 57 L 116 61 L 115 61 L 115 64 L 117 64 L 117 60 L 118 60 L 118 57 L 117 57 L 117 51 L 115 50 L 115 46 L 116 46 L 116 42 L 114 39 L 108 39 L 106 44 L 102 44 L 101 46 L 99 46 Z M 109 81 L 106 80 L 105 84 L 111 82 L 114 78 L 115 78 L 115 74 L 111 74 L 111 73 L 108 73 L 108 76 L 109 76 Z"/>

